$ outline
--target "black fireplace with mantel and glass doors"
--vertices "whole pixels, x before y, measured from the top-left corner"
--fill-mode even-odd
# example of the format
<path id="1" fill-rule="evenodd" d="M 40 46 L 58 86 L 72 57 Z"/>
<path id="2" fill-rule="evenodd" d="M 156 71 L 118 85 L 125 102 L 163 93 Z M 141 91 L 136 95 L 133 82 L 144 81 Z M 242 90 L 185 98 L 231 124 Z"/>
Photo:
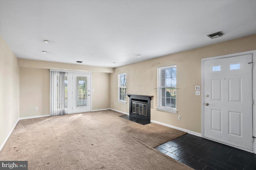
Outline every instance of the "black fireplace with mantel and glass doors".
<path id="1" fill-rule="evenodd" d="M 150 103 L 152 96 L 127 94 L 130 98 L 130 116 L 150 122 Z"/>

